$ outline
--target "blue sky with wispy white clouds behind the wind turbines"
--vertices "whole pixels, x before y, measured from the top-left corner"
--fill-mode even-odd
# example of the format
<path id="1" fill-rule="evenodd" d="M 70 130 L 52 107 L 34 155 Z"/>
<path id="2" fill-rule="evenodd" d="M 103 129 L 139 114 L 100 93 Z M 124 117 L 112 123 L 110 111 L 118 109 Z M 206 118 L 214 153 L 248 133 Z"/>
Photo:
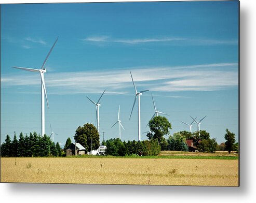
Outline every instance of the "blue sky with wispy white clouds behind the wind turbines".
<path id="1" fill-rule="evenodd" d="M 141 131 L 157 110 L 168 113 L 171 134 L 181 123 L 206 119 L 200 128 L 224 141 L 225 129 L 238 140 L 238 2 L 147 2 L 1 5 L 1 142 L 7 134 L 41 132 L 40 76 L 11 68 L 39 68 L 53 42 L 45 83 L 50 124 L 62 144 L 85 123 L 100 136 L 138 139 L 134 88 L 141 96 Z M 192 130 L 197 129 L 193 124 Z M 146 134 L 142 134 L 142 140 Z"/>

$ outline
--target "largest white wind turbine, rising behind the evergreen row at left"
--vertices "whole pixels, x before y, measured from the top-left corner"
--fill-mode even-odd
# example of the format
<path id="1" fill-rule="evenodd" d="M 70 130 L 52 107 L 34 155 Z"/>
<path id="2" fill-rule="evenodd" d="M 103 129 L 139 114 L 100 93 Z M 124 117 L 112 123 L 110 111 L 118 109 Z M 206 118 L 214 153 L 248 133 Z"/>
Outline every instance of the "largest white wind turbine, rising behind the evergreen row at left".
<path id="1" fill-rule="evenodd" d="M 46 61 L 47 61 L 47 59 L 48 59 L 48 57 L 49 57 L 53 47 L 55 46 L 56 42 L 58 41 L 58 38 L 56 39 L 56 41 L 52 45 L 49 53 L 47 54 L 47 56 L 45 58 L 44 63 L 43 63 L 43 65 L 42 65 L 42 67 L 40 69 L 23 68 L 23 67 L 12 66 L 12 68 L 18 68 L 18 69 L 21 69 L 21 70 L 27 70 L 27 71 L 31 71 L 31 72 L 39 72 L 39 74 L 41 76 L 41 129 L 42 129 L 42 136 L 45 135 L 45 98 L 46 98 L 47 106 L 48 106 L 48 109 L 49 109 L 47 93 L 46 93 L 46 89 L 45 89 L 45 79 L 44 79 L 44 73 L 46 72 L 45 63 L 46 63 Z"/>

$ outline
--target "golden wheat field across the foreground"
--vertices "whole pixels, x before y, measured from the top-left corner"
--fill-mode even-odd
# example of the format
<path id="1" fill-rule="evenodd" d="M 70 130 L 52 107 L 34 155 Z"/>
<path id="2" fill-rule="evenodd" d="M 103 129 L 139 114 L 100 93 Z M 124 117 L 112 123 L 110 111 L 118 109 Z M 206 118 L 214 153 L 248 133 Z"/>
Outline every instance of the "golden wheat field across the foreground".
<path id="1" fill-rule="evenodd" d="M 238 186 L 238 160 L 1 158 L 1 182 Z"/>

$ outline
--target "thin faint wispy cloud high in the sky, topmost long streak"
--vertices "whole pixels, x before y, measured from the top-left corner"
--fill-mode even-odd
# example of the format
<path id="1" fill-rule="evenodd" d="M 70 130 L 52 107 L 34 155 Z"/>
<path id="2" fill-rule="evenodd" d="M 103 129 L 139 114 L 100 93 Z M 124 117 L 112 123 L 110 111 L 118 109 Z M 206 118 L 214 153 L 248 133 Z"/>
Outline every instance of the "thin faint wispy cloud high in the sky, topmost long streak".
<path id="1" fill-rule="evenodd" d="M 238 45 L 237 40 L 220 40 L 220 39 L 204 39 L 204 38 L 191 38 L 191 37 L 159 37 L 159 38 L 130 38 L 130 39 L 119 39 L 111 38 L 110 36 L 91 36 L 82 39 L 82 41 L 99 43 L 120 43 L 120 44 L 145 44 L 149 42 L 171 42 L 179 41 L 181 46 L 202 46 L 202 45 Z"/>

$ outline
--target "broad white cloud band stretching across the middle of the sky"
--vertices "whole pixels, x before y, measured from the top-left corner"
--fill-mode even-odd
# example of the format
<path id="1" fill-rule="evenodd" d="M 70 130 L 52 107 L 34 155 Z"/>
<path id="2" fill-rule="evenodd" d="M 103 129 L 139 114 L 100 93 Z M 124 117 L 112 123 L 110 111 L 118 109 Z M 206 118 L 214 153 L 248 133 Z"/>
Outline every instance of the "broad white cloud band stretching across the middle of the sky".
<path id="1" fill-rule="evenodd" d="M 218 91 L 238 86 L 238 64 L 205 64 L 172 67 L 131 67 L 117 70 L 52 72 L 45 81 L 49 94 L 101 93 L 127 94 L 133 91 L 130 72 L 138 91 L 158 92 Z M 40 77 L 32 73 L 2 76 L 3 87 L 40 85 Z"/>

